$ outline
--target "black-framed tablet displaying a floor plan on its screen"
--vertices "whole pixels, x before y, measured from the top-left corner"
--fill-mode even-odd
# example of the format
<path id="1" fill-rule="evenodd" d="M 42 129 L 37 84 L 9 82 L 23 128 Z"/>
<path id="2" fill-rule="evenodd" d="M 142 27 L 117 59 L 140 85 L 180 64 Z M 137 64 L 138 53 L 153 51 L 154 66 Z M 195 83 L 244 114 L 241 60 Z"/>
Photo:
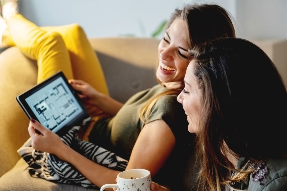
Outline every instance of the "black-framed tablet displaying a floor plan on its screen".
<path id="1" fill-rule="evenodd" d="M 87 118 L 88 112 L 62 71 L 17 96 L 29 119 L 63 134 Z"/>

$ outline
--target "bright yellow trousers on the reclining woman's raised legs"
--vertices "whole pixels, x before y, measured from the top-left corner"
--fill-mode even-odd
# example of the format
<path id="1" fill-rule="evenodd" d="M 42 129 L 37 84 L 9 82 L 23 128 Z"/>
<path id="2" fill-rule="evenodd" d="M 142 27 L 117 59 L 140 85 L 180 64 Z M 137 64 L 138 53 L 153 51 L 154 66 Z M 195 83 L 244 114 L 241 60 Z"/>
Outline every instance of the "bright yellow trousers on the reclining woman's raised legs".
<path id="1" fill-rule="evenodd" d="M 27 57 L 37 60 L 40 83 L 57 71 L 68 79 L 81 79 L 109 95 L 101 64 L 85 32 L 77 24 L 38 27 L 16 14 L 7 20 L 9 46 L 17 46 Z"/>

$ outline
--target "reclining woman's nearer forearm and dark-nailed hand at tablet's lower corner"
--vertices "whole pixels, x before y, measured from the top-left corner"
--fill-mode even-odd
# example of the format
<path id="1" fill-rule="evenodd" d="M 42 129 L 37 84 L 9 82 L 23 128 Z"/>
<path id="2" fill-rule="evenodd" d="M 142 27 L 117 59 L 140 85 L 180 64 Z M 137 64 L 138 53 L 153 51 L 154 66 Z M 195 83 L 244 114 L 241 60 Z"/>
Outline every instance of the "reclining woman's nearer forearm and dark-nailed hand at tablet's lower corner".
<path id="1" fill-rule="evenodd" d="M 35 150 L 54 154 L 70 163 L 94 185 L 101 187 L 103 184 L 115 183 L 120 171 L 106 168 L 89 160 L 66 145 L 60 136 L 42 126 L 38 121 L 30 120 L 28 132 L 31 136 L 31 146 Z"/>

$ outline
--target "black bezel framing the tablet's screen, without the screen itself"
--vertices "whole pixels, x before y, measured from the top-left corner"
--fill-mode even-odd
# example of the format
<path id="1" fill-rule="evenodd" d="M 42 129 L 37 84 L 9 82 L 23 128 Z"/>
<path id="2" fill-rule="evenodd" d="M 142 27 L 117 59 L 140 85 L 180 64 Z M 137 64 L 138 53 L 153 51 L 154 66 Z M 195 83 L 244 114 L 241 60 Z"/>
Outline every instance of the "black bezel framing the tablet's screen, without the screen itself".
<path id="1" fill-rule="evenodd" d="M 55 73 L 54 75 L 52 75 L 48 79 L 44 80 L 43 82 L 41 82 L 39 84 L 36 84 L 35 86 L 31 87 L 27 91 L 25 91 L 22 94 L 18 95 L 16 97 L 16 100 L 19 103 L 19 105 L 21 106 L 21 108 L 24 111 L 24 113 L 29 118 L 29 120 L 30 119 L 35 119 L 35 120 L 40 122 L 38 117 L 35 115 L 35 113 L 32 111 L 32 109 L 28 105 L 28 103 L 26 101 L 26 98 L 28 98 L 30 95 L 32 95 L 35 92 L 41 90 L 46 85 L 48 85 L 49 83 L 51 83 L 54 80 L 59 79 L 59 78 L 63 79 L 63 82 L 68 87 L 69 91 L 72 93 L 73 99 L 77 101 L 78 105 L 80 106 L 80 108 L 82 110 L 82 112 L 80 112 L 76 117 L 74 117 L 72 120 L 70 120 L 70 122 L 68 122 L 67 124 L 64 124 L 63 127 L 61 127 L 58 130 L 55 130 L 55 129 L 52 130 L 52 132 L 55 132 L 58 135 L 62 135 L 64 133 L 66 133 L 73 126 L 80 125 L 83 119 L 89 117 L 89 114 L 88 114 L 84 104 L 82 103 L 80 97 L 77 95 L 77 92 L 73 89 L 73 87 L 69 84 L 67 78 L 65 77 L 65 75 L 64 75 L 64 73 L 62 71 L 59 71 L 59 72 Z"/>

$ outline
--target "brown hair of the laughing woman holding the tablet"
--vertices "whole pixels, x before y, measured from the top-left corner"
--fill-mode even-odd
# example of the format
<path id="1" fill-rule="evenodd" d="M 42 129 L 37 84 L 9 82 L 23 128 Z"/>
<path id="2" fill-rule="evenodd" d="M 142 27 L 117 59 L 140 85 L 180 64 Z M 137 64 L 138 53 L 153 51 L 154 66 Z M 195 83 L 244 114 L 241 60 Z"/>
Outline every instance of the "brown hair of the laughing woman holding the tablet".
<path id="1" fill-rule="evenodd" d="M 166 28 L 168 29 L 177 18 L 183 19 L 188 26 L 190 47 L 218 37 L 235 37 L 235 29 L 230 14 L 223 7 L 216 4 L 192 4 L 184 6 L 183 9 L 176 9 L 171 15 Z M 161 84 L 159 80 L 158 82 Z M 169 89 L 153 97 L 141 109 L 140 119 L 144 122 L 148 119 L 154 103 L 161 96 L 178 95 L 183 87 L 184 83 L 178 89 Z"/>

